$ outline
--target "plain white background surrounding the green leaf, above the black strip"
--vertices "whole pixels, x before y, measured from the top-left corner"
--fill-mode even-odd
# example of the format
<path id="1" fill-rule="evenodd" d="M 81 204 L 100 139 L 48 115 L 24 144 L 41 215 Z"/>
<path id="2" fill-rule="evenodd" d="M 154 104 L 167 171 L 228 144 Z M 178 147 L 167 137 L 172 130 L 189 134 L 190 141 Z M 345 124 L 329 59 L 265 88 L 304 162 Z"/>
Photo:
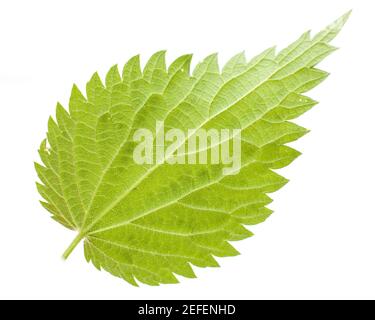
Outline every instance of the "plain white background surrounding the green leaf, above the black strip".
<path id="1" fill-rule="evenodd" d="M 240 256 L 140 288 L 87 264 L 82 246 L 60 259 L 75 235 L 39 205 L 33 161 L 73 82 L 160 49 L 251 57 L 349 9 L 341 49 L 319 66 L 331 76 L 310 93 L 321 103 L 298 120 L 312 130 L 294 144 L 303 155 L 282 171 L 275 213 L 235 243 Z M 1 1 L 0 298 L 375 298 L 374 12 L 371 0 Z"/>

